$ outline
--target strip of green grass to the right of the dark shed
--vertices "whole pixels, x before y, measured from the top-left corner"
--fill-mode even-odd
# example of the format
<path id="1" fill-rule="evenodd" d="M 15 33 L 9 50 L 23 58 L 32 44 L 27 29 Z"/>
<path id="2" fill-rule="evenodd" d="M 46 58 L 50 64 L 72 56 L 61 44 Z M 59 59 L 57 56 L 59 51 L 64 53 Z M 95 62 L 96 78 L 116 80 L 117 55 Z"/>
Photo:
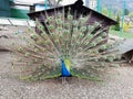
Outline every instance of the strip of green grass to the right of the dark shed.
<path id="1" fill-rule="evenodd" d="M 109 33 L 124 38 L 133 38 L 133 33 L 129 32 L 123 32 L 123 34 L 120 34 L 120 31 L 110 30 Z"/>

